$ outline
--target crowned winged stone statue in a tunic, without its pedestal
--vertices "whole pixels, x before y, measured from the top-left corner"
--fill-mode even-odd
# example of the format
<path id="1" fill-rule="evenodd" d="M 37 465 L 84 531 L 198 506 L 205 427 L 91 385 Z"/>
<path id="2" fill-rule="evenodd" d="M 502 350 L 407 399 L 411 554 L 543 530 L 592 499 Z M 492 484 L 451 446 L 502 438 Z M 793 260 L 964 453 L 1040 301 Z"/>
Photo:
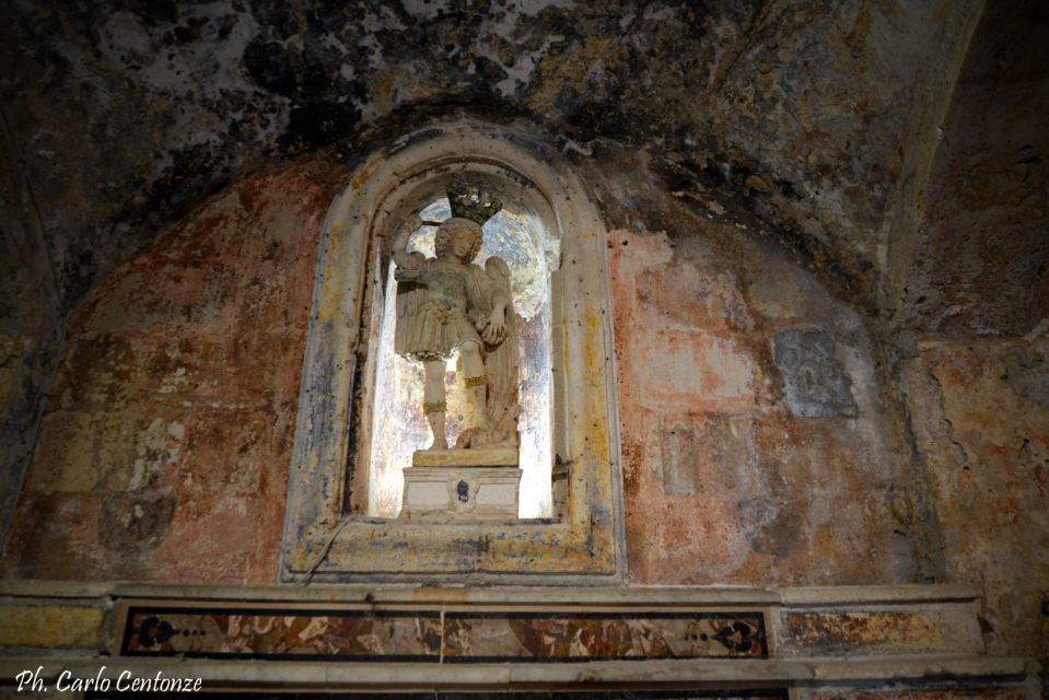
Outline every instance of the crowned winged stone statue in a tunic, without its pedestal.
<path id="1" fill-rule="evenodd" d="M 502 205 L 475 187 L 454 186 L 447 194 L 452 218 L 438 224 L 435 258 L 408 253 L 408 237 L 417 225 L 403 228 L 394 241 L 394 349 L 423 365 L 422 410 L 433 434 L 430 452 L 448 448 L 444 374 L 456 350 L 456 378 L 473 416 L 455 448 L 516 448 L 518 351 L 510 268 L 496 256 L 483 268 L 473 262 L 485 222 Z"/>

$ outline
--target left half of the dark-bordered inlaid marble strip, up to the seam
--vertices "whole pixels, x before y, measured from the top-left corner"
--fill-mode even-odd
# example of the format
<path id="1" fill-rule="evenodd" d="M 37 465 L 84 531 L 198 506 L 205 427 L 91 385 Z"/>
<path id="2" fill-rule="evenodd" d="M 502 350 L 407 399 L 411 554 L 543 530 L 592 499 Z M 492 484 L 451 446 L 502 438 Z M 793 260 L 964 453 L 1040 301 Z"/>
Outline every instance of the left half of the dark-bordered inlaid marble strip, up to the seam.
<path id="1" fill-rule="evenodd" d="M 438 662 L 441 615 L 435 610 L 132 607 L 121 654 Z"/>

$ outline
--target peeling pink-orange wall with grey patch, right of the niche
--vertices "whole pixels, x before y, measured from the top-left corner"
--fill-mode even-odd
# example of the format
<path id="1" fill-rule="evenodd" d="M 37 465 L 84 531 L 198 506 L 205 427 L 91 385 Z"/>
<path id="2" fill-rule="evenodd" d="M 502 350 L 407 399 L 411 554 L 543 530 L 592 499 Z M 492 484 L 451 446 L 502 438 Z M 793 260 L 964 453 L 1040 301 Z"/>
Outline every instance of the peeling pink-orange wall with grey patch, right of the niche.
<path id="1" fill-rule="evenodd" d="M 598 190 L 631 582 L 911 580 L 865 317 L 755 218 L 637 186 L 657 175 L 634 158 L 618 154 Z"/>

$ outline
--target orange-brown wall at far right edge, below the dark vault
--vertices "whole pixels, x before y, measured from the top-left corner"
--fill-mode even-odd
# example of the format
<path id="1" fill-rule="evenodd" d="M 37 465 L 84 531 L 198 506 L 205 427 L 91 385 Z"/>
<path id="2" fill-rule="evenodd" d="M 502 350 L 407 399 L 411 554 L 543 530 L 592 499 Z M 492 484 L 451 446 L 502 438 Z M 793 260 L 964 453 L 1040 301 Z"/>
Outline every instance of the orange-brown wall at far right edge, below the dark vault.
<path id="1" fill-rule="evenodd" d="M 994 653 L 1049 650 L 1049 339 L 929 338 L 907 368 L 951 582 Z"/>

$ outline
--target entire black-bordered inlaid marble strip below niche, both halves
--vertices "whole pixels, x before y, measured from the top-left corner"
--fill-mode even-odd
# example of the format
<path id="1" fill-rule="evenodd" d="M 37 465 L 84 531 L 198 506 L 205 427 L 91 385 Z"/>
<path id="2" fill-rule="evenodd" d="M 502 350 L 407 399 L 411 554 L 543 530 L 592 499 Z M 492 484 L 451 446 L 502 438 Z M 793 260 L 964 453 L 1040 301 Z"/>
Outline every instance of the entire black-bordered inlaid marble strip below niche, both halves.
<path id="1" fill-rule="evenodd" d="M 137 607 L 129 656 L 587 662 L 768 658 L 760 611 L 517 612 Z"/>

